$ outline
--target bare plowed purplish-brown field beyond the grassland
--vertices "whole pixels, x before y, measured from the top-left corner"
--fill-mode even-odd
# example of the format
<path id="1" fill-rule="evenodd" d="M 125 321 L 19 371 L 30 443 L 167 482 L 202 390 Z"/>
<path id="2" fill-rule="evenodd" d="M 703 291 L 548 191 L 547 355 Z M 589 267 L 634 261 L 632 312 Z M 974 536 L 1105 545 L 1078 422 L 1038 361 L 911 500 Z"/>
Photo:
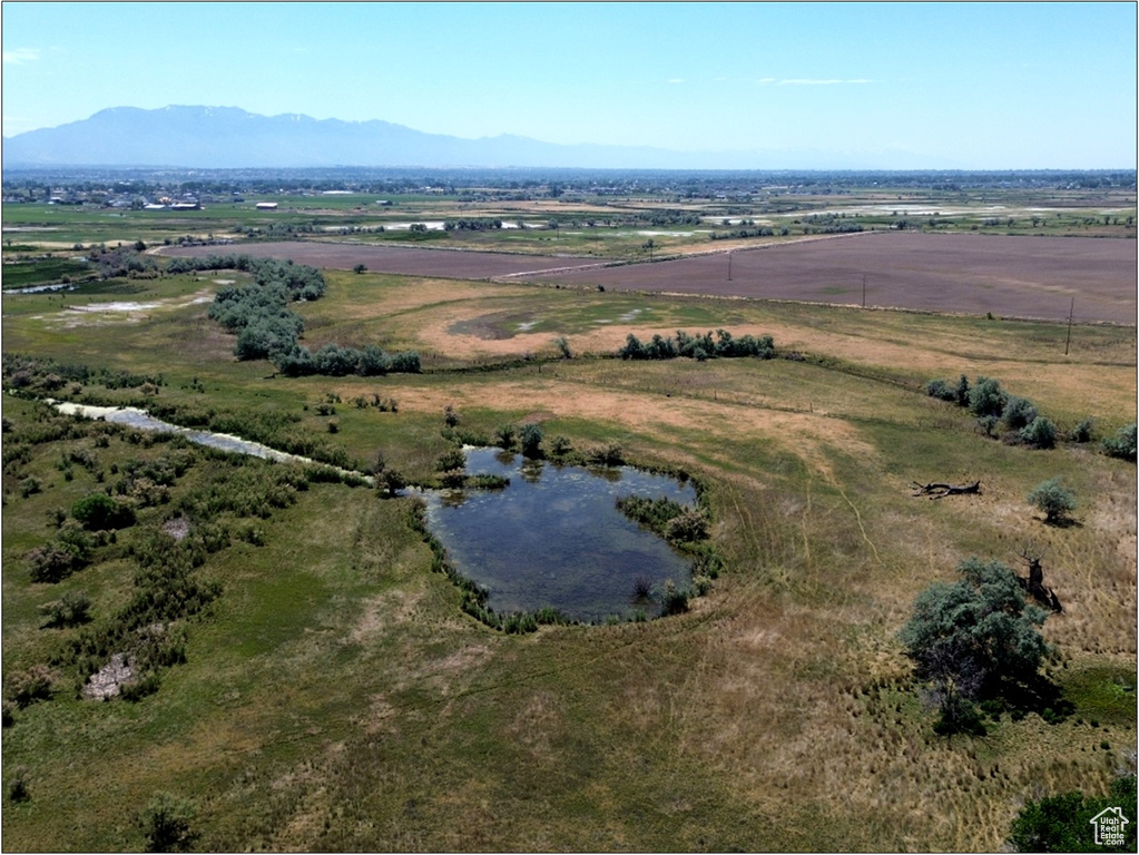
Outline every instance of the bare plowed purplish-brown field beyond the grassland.
<path id="1" fill-rule="evenodd" d="M 166 250 L 208 255 L 216 247 Z M 277 242 L 238 252 L 318 268 L 552 281 L 614 290 L 751 297 L 1006 318 L 1134 324 L 1136 241 L 872 232 L 606 268 L 596 260 L 349 244 Z"/>

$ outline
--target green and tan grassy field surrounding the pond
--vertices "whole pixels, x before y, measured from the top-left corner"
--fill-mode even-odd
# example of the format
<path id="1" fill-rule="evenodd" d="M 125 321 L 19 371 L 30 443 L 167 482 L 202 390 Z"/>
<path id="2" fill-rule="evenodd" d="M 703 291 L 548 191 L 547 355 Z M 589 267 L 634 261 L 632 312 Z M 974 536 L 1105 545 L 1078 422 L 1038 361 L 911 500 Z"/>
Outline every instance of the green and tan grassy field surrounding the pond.
<path id="1" fill-rule="evenodd" d="M 415 348 L 424 373 L 289 379 L 235 361 L 197 302 L 230 279 L 6 296 L 5 352 L 162 376 L 149 396 L 93 376 L 57 397 L 279 418 L 361 467 L 382 450 L 412 480 L 436 477 L 448 404 L 474 433 L 532 420 L 575 447 L 617 442 L 707 485 L 726 569 L 680 616 L 506 635 L 431 572 L 408 498 L 312 482 L 264 516 L 224 510 L 230 545 L 194 570 L 221 593 L 173 622 L 186 661 L 157 692 L 82 700 L 75 666 L 56 664 L 51 698 L 15 712 L 5 783 L 24 767 L 31 798 L 6 797 L 6 848 L 139 849 L 136 817 L 169 791 L 192 800 L 211 850 L 994 850 L 1025 799 L 1103 794 L 1133 768 L 1134 466 L 1096 443 L 986 438 L 924 387 L 995 377 L 1062 430 L 1091 418 L 1112 436 L 1136 419 L 1134 328 L 1077 326 L 1065 356 L 1065 329 L 1044 323 L 329 272 L 297 309 L 305 344 Z M 612 359 L 630 332 L 718 327 L 796 356 Z M 372 394 L 398 410 L 351 403 Z M 100 625 L 131 597 L 132 544 L 180 502 L 268 490 L 282 469 L 65 429 L 10 396 L 3 416 L 6 688 L 83 632 L 44 626 L 40 606 L 87 591 Z M 167 502 L 65 581 L 30 581 L 55 509 L 175 452 L 192 462 Z M 84 454 L 97 462 L 66 463 Z M 1068 527 L 1025 500 L 1054 476 L 1077 496 Z M 974 479 L 978 496 L 911 495 Z M 937 737 L 896 633 L 961 559 L 1021 550 L 1043 554 L 1065 606 L 1044 625 L 1047 672 L 1072 712 Z"/>

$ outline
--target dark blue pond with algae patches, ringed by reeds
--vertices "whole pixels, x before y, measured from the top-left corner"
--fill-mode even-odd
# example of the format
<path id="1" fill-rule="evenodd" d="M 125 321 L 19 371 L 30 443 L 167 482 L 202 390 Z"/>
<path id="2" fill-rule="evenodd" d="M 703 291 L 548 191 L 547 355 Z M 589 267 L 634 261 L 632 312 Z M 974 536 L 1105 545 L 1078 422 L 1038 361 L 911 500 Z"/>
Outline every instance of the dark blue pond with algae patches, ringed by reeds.
<path id="1" fill-rule="evenodd" d="M 618 496 L 695 507 L 696 491 L 663 475 L 583 469 L 468 449 L 469 475 L 510 479 L 503 490 L 431 491 L 427 526 L 459 573 L 485 587 L 500 615 L 554 607 L 577 620 L 659 614 L 666 582 L 687 586 L 691 561 L 628 519 Z M 638 597 L 638 589 L 656 594 Z"/>

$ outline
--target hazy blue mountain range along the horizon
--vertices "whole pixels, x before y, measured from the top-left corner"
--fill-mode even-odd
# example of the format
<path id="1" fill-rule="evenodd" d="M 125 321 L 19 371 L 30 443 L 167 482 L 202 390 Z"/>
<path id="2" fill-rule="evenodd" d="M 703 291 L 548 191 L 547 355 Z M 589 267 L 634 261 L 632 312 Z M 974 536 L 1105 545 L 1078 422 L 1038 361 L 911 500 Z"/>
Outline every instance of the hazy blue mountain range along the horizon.
<path id="1" fill-rule="evenodd" d="M 838 162 L 839 159 L 844 162 Z M 683 153 L 631 146 L 562 146 L 500 135 L 477 140 L 390 122 L 259 116 L 237 107 L 114 107 L 88 120 L 3 140 L 21 166 L 565 166 L 584 168 L 916 168 L 896 157 L 820 151 Z"/>

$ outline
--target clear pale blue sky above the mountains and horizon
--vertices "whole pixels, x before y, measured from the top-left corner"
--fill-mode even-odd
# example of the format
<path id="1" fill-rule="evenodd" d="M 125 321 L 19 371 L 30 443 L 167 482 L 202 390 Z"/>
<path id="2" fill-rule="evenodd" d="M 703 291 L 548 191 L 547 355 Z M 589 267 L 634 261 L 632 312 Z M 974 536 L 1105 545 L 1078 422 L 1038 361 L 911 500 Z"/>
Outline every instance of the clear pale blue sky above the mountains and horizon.
<path id="1" fill-rule="evenodd" d="M 1133 168 L 1136 8 L 5 2 L 3 135 L 178 104 L 836 165 Z"/>

